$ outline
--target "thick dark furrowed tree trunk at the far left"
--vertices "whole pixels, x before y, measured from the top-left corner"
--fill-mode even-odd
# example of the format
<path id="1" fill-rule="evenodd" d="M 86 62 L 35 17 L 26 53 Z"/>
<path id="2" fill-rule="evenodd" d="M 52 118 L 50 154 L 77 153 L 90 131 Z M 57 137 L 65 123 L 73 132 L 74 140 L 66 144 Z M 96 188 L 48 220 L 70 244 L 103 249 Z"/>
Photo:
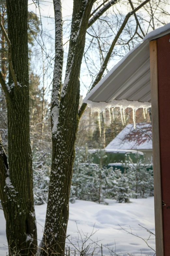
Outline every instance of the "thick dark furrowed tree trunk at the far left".
<path id="1" fill-rule="evenodd" d="M 0 161 L 4 163 L 0 169 L 4 177 L 0 185 L 5 188 L 1 189 L 0 197 L 6 219 L 9 255 L 17 251 L 21 255 L 32 256 L 36 252 L 37 236 L 29 134 L 27 8 L 27 0 L 7 0 L 8 38 L 17 86 L 9 70 L 8 87 L 4 87 L 7 99 L 9 169 L 7 160 L 0 156 Z"/>

